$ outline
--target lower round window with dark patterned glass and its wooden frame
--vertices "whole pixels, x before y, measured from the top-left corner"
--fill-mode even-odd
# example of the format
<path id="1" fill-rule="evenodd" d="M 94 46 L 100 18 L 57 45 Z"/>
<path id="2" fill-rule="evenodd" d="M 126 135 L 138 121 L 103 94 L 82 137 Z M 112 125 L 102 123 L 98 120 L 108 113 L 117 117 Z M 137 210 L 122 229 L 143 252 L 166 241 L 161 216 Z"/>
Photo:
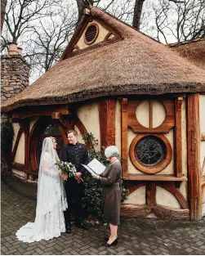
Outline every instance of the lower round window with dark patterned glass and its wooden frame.
<path id="1" fill-rule="evenodd" d="M 163 135 L 138 135 L 130 147 L 131 162 L 145 173 L 158 173 L 170 163 L 172 146 Z"/>

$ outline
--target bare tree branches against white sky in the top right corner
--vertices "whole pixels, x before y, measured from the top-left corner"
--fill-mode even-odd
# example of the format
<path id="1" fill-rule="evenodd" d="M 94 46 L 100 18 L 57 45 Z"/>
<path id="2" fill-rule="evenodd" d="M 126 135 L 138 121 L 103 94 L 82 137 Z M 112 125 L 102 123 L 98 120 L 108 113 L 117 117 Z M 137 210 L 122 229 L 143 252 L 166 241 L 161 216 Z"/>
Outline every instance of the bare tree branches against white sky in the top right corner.
<path id="1" fill-rule="evenodd" d="M 169 43 L 169 37 L 177 42 L 205 36 L 205 0 L 159 0 L 153 5 L 158 41 Z"/>

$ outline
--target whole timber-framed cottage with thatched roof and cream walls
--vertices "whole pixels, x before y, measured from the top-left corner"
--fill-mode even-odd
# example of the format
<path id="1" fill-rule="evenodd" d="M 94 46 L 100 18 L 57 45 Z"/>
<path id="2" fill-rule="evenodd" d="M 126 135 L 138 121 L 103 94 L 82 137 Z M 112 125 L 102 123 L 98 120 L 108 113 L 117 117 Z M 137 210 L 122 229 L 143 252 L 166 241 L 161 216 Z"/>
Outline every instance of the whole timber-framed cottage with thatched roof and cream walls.
<path id="1" fill-rule="evenodd" d="M 205 74 L 173 48 L 85 9 L 60 61 L 2 104 L 15 131 L 13 173 L 37 177 L 47 134 L 60 146 L 70 128 L 92 132 L 121 151 L 122 215 L 202 218 Z"/>

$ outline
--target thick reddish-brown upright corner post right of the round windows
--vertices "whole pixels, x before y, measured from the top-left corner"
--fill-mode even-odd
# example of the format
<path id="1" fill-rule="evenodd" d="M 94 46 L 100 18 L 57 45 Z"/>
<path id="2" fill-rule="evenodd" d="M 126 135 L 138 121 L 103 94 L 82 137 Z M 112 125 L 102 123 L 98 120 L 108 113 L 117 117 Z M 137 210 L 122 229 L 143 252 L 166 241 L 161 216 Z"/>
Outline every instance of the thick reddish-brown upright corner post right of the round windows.
<path id="1" fill-rule="evenodd" d="M 202 218 L 202 191 L 200 179 L 200 127 L 199 127 L 199 94 L 187 97 L 187 159 L 189 177 L 190 219 Z"/>

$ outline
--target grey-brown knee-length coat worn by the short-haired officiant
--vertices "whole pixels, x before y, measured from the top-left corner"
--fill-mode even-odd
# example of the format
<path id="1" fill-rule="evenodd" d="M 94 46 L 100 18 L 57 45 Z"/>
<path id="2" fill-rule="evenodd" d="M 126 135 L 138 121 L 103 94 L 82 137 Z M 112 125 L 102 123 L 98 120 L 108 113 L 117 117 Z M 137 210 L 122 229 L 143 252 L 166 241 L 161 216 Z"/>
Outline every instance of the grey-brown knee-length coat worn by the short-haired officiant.
<path id="1" fill-rule="evenodd" d="M 106 222 L 119 224 L 121 191 L 120 178 L 122 168 L 119 162 L 109 164 L 100 175 L 100 185 L 103 187 L 102 208 Z"/>

